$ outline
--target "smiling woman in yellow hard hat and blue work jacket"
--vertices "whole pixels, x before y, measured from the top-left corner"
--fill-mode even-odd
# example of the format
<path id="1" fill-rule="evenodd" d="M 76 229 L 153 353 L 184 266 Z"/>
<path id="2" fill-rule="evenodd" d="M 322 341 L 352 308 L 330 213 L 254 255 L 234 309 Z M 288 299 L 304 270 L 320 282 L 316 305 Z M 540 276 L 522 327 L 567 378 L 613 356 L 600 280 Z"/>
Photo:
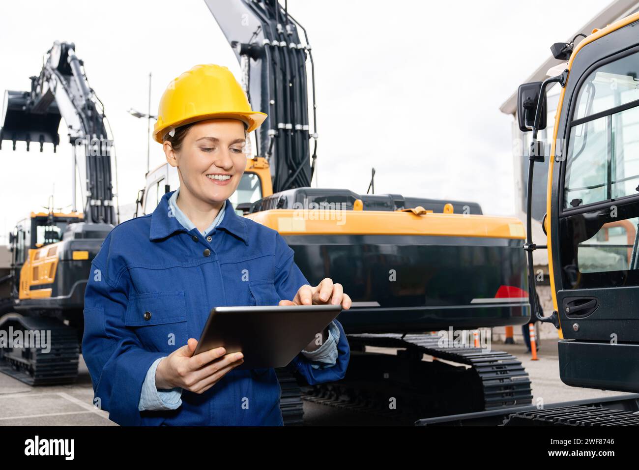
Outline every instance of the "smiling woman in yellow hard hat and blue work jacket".
<path id="1" fill-rule="evenodd" d="M 341 285 L 310 286 L 293 250 L 235 213 L 251 111 L 226 67 L 197 65 L 160 100 L 153 136 L 180 187 L 153 214 L 119 224 L 91 263 L 83 356 L 95 404 L 121 425 L 282 425 L 273 368 L 238 370 L 242 353 L 193 355 L 213 306 L 341 304 Z M 309 384 L 344 377 L 350 349 L 334 320 L 291 361 Z"/>

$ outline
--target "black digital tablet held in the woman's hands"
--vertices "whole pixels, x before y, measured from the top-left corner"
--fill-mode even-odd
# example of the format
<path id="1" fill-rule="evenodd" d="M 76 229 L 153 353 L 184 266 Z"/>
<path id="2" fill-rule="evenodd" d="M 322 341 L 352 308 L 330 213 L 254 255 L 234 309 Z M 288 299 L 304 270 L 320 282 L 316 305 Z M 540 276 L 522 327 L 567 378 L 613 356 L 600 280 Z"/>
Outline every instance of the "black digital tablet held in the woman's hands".
<path id="1" fill-rule="evenodd" d="M 194 355 L 222 346 L 244 355 L 236 369 L 284 367 L 341 311 L 341 304 L 215 307 Z"/>

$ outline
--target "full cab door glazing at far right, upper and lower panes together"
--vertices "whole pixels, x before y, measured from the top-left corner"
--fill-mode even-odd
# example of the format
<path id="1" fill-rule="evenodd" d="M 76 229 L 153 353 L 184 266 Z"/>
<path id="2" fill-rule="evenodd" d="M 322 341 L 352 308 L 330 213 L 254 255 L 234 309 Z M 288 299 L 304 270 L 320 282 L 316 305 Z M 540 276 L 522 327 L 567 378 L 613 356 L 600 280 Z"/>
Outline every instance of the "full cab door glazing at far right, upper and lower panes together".
<path id="1" fill-rule="evenodd" d="M 638 74 L 636 52 L 592 70 L 576 95 L 563 208 L 566 214 L 574 208 L 593 210 L 564 219 L 573 235 L 564 273 L 573 287 L 636 278 L 629 270 L 639 268 L 639 203 L 632 201 L 639 194 Z"/>

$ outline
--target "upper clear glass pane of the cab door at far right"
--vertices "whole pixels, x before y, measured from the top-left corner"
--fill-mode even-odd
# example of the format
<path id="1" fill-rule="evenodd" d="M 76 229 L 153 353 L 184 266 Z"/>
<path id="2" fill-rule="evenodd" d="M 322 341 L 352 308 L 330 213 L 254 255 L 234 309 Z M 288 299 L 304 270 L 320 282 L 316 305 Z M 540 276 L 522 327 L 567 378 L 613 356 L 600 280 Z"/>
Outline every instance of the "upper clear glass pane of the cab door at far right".
<path id="1" fill-rule="evenodd" d="M 637 74 L 639 53 L 602 65 L 583 82 L 570 125 L 564 208 L 638 193 Z"/>

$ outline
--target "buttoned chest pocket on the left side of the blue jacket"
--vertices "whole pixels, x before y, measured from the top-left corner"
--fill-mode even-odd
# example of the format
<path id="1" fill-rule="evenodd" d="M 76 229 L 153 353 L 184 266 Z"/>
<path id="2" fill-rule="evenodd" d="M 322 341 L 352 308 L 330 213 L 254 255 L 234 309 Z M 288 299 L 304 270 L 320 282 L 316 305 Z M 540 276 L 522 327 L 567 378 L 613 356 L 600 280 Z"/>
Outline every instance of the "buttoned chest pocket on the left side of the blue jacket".
<path id="1" fill-rule="evenodd" d="M 128 299 L 125 326 L 151 352 L 167 352 L 187 343 L 187 308 L 183 290 L 150 292 Z"/>

